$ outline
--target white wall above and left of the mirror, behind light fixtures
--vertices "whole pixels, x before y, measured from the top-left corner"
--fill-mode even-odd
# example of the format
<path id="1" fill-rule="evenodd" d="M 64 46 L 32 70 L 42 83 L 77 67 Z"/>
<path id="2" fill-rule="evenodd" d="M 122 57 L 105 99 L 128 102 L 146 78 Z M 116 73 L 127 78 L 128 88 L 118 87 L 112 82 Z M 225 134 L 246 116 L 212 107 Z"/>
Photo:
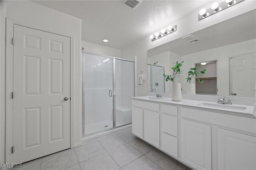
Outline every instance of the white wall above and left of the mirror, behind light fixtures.
<path id="1" fill-rule="evenodd" d="M 236 4 L 235 6 L 232 6 L 232 8 L 227 8 L 223 10 L 222 12 L 218 12 L 208 18 L 205 18 L 203 20 L 198 21 L 198 13 L 201 8 L 210 8 L 212 5 L 212 2 L 209 2 L 205 4 L 204 6 L 190 12 L 189 14 L 183 16 L 182 18 L 168 24 L 168 25 L 177 25 L 177 31 L 174 33 L 160 38 L 156 41 L 151 42 L 149 39 L 149 36 L 146 36 L 145 38 L 141 39 L 140 41 L 137 41 L 135 43 L 132 43 L 131 45 L 128 45 L 127 47 L 121 49 L 121 57 L 124 59 L 130 59 L 133 60 L 134 56 L 137 56 L 136 60 L 136 69 L 137 69 L 137 81 L 138 81 L 138 74 L 140 70 L 144 70 L 145 76 L 147 76 L 147 50 L 152 49 L 154 47 L 157 47 L 159 45 L 168 43 L 170 41 L 173 41 L 175 39 L 178 39 L 180 37 L 183 37 L 185 35 L 188 35 L 190 33 L 194 33 L 196 31 L 199 31 L 201 29 L 204 29 L 206 27 L 209 27 L 211 25 L 214 25 L 216 23 L 228 20 L 230 18 L 233 18 L 235 16 L 238 16 L 240 14 L 244 14 L 246 12 L 249 12 L 250 10 L 255 9 L 256 1 L 255 0 L 246 0 L 239 4 Z M 168 26 L 166 25 L 161 29 L 166 29 Z M 155 32 L 154 32 L 155 33 Z M 154 34 L 151 33 L 151 34 Z M 147 78 L 147 77 L 145 77 Z M 146 81 L 144 81 L 143 85 L 136 85 L 137 88 L 137 96 L 144 96 L 146 95 Z M 184 88 L 183 88 L 184 89 Z"/>

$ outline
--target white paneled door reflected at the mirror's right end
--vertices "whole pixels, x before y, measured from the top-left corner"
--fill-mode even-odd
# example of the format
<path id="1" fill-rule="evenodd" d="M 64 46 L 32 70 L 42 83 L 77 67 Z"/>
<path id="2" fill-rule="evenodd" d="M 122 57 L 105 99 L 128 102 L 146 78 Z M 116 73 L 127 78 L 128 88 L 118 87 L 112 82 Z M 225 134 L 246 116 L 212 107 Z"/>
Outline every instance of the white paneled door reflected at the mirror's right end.
<path id="1" fill-rule="evenodd" d="M 249 53 L 233 57 L 231 93 L 239 96 L 255 95 L 256 54 Z"/>

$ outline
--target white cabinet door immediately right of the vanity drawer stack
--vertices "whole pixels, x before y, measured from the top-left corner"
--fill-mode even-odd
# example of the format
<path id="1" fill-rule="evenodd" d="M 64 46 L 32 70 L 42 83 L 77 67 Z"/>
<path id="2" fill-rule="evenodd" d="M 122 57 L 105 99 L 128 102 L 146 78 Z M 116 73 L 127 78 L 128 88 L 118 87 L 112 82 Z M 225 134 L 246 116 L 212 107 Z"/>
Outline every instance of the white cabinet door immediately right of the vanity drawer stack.
<path id="1" fill-rule="evenodd" d="M 181 120 L 181 160 L 195 169 L 212 169 L 209 125 Z"/>

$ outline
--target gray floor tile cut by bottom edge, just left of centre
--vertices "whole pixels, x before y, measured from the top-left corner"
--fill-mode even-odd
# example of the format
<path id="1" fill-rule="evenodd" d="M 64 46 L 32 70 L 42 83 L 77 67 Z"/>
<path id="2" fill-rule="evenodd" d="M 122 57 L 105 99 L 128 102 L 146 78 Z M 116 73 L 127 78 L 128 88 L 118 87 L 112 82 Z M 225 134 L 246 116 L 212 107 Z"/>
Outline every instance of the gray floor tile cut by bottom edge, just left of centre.
<path id="1" fill-rule="evenodd" d="M 118 170 L 120 166 L 108 154 L 100 154 L 80 163 L 82 170 Z"/>

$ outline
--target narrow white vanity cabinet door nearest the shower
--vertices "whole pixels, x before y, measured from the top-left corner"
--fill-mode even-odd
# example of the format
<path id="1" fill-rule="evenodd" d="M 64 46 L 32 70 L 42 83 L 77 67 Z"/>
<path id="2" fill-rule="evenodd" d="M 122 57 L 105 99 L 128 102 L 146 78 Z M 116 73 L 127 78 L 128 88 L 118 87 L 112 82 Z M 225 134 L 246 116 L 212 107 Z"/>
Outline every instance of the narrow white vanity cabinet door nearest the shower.
<path id="1" fill-rule="evenodd" d="M 132 107 L 132 133 L 143 138 L 143 109 Z"/>

